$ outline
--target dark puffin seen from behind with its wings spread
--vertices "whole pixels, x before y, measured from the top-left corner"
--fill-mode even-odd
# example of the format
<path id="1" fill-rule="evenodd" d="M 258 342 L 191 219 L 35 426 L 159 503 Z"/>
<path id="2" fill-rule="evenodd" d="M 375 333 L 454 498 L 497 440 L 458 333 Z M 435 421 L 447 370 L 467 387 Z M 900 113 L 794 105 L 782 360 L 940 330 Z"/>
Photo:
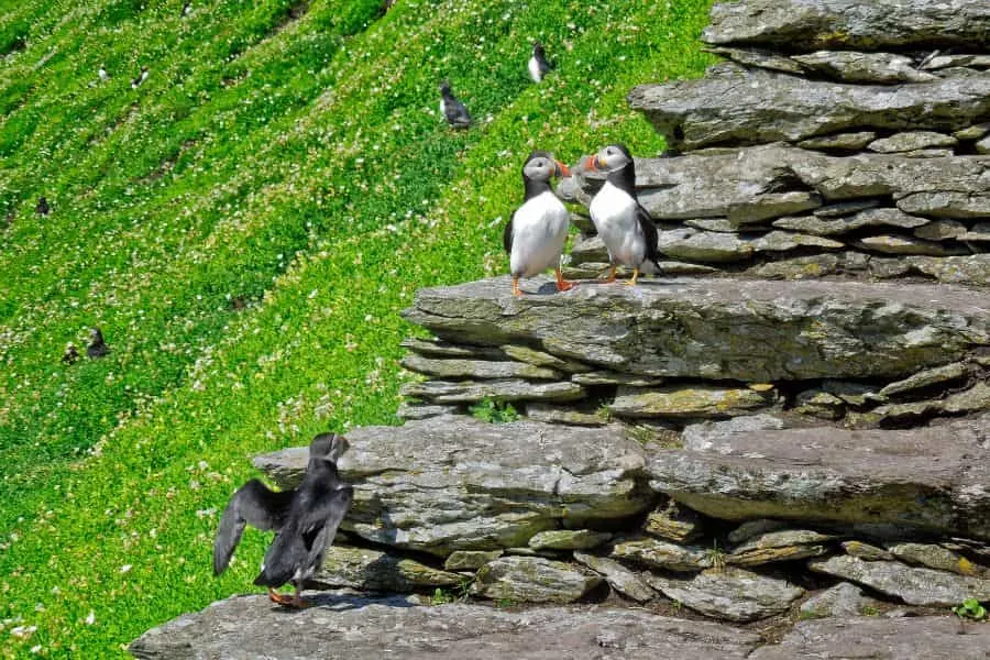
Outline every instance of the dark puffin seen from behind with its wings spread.
<path id="1" fill-rule="evenodd" d="M 309 443 L 309 463 L 302 482 L 290 491 L 272 491 L 253 479 L 231 496 L 213 541 L 213 574 L 230 564 L 244 526 L 275 530 L 265 552 L 257 586 L 268 587 L 268 597 L 287 607 L 301 608 L 302 585 L 323 563 L 323 554 L 354 498 L 354 490 L 337 472 L 337 461 L 348 450 L 346 438 L 320 433 Z M 295 594 L 275 591 L 292 582 Z"/>

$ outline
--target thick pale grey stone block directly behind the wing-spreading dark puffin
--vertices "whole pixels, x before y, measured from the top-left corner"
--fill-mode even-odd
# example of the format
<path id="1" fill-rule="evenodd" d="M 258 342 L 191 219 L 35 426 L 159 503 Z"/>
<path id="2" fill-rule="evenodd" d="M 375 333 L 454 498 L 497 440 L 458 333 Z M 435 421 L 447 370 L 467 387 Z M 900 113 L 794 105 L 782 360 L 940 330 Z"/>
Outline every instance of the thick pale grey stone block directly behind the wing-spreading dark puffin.
<path id="1" fill-rule="evenodd" d="M 341 476 L 354 486 L 342 527 L 374 542 L 447 556 L 525 546 L 565 522 L 623 518 L 652 506 L 642 446 L 598 429 L 471 417 L 348 432 Z M 282 487 L 301 479 L 306 448 L 255 459 Z"/>

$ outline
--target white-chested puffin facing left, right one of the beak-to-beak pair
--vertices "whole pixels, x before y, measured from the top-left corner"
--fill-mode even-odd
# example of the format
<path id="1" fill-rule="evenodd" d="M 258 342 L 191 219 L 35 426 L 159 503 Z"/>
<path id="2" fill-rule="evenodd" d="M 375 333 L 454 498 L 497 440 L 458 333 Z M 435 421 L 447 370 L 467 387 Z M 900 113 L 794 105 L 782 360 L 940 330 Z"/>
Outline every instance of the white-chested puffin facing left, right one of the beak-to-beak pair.
<path id="1" fill-rule="evenodd" d="M 605 185 L 592 199 L 592 222 L 608 250 L 610 270 L 605 282 L 615 282 L 619 265 L 632 268 L 635 285 L 640 272 L 661 271 L 657 226 L 636 197 L 636 165 L 624 144 L 610 144 L 590 157 L 586 168 L 608 173 Z"/>

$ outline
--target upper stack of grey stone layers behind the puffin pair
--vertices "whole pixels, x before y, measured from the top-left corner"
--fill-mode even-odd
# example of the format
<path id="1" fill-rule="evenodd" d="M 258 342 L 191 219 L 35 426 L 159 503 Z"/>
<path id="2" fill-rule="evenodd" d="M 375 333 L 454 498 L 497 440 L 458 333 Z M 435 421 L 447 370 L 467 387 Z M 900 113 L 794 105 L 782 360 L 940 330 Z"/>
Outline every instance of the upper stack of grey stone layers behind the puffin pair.
<path id="1" fill-rule="evenodd" d="M 629 95 L 669 274 L 990 283 L 990 13 L 974 1 L 716 4 L 700 80 Z M 587 205 L 602 185 L 564 186 Z M 571 276 L 607 262 L 586 213 Z"/>

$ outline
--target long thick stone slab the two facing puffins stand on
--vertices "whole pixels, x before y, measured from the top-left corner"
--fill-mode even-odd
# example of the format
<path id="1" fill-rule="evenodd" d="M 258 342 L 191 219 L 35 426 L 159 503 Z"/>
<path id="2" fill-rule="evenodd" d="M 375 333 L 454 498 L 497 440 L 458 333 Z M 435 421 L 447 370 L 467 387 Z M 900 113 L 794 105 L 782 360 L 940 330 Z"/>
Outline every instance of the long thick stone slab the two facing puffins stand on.
<path id="1" fill-rule="evenodd" d="M 505 276 L 420 289 L 404 316 L 452 342 L 517 342 L 610 371 L 763 383 L 900 378 L 956 362 L 990 343 L 988 305 L 979 292 L 944 285 L 663 277 L 517 298 Z"/>

